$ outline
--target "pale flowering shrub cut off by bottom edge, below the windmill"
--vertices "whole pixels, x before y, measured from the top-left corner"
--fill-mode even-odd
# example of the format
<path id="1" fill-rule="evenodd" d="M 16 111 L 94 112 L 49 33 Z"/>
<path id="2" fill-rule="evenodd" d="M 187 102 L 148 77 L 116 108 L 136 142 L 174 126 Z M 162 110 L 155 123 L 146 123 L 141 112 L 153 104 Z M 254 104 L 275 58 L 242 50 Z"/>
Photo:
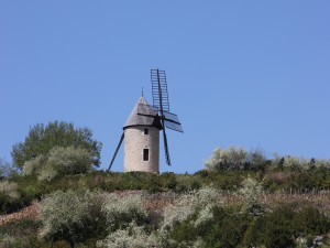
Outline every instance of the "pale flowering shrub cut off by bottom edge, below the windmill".
<path id="1" fill-rule="evenodd" d="M 125 229 L 111 233 L 105 240 L 97 241 L 97 247 L 102 248 L 162 248 L 164 245 L 154 233 L 146 233 L 143 227 L 131 223 Z"/>

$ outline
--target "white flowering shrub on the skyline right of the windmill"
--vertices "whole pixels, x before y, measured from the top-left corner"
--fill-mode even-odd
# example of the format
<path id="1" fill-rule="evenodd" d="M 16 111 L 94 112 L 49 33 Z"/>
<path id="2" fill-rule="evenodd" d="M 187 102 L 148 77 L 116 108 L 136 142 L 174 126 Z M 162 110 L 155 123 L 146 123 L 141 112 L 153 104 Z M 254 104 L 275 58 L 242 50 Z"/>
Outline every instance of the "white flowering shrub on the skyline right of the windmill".
<path id="1" fill-rule="evenodd" d="M 230 147 L 228 150 L 217 148 L 210 159 L 205 162 L 206 169 L 211 171 L 243 170 L 248 152 L 242 148 Z"/>

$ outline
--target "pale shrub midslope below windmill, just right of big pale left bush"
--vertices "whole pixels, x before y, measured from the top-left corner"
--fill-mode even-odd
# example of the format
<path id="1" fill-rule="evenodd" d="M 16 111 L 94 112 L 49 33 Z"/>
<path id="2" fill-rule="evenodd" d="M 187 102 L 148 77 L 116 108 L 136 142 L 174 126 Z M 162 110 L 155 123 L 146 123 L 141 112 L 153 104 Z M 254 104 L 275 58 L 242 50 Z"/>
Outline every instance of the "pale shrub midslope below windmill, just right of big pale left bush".
<path id="1" fill-rule="evenodd" d="M 110 230 L 125 228 L 131 223 L 143 225 L 148 222 L 148 213 L 144 208 L 140 195 L 120 196 L 105 195 L 103 212 L 107 214 L 107 224 Z"/>

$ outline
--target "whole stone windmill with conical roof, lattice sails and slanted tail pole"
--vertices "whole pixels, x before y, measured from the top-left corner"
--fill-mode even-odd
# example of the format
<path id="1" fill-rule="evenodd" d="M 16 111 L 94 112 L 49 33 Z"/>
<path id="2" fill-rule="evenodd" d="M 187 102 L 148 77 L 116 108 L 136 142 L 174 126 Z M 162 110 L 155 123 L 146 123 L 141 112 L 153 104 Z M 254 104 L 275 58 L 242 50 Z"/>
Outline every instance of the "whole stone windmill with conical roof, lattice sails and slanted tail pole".
<path id="1" fill-rule="evenodd" d="M 169 112 L 165 71 L 152 69 L 153 106 L 143 94 L 123 126 L 123 133 L 107 171 L 124 140 L 124 172 L 160 172 L 160 131 L 163 131 L 166 163 L 170 165 L 166 128 L 184 132 L 175 114 Z"/>

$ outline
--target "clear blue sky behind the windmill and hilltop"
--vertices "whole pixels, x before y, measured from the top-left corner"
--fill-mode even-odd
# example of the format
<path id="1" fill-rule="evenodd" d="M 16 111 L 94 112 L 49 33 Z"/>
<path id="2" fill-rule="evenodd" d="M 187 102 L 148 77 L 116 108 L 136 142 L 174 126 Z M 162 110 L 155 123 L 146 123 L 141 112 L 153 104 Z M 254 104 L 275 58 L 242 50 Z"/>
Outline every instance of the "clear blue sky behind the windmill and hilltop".
<path id="1" fill-rule="evenodd" d="M 329 13 L 328 0 L 0 0 L 0 157 L 65 120 L 94 131 L 107 168 L 160 68 L 185 129 L 168 131 L 161 171 L 194 173 L 229 145 L 329 159 Z"/>

